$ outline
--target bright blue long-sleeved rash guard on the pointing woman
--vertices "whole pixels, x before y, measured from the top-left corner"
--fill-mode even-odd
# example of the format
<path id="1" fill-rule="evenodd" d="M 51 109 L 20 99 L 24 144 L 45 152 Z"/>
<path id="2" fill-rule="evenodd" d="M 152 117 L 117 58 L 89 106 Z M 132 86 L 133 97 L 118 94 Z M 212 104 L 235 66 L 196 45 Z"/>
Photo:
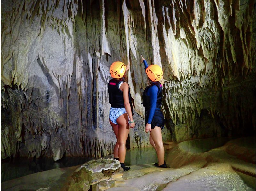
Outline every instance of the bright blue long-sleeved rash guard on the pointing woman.
<path id="1" fill-rule="evenodd" d="M 146 60 L 143 60 L 145 70 L 148 67 L 148 63 Z M 152 119 L 154 117 L 156 109 L 159 110 L 159 108 L 156 108 L 156 100 L 157 100 L 157 94 L 158 94 L 158 87 L 156 85 L 151 86 L 148 88 L 148 91 L 146 92 L 147 96 L 150 96 L 150 110 L 148 115 L 148 121 L 147 123 L 151 124 Z"/>

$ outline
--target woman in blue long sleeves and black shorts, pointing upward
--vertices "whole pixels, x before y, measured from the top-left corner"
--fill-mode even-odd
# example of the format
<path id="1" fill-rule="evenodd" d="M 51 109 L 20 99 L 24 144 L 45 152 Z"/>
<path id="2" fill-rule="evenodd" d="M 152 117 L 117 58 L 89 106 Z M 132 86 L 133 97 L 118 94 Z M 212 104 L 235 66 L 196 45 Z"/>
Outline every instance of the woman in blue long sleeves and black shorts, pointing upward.
<path id="1" fill-rule="evenodd" d="M 164 128 L 164 115 L 161 112 L 162 105 L 162 84 L 159 82 L 163 71 L 158 65 L 148 66 L 147 61 L 141 55 L 141 62 L 144 63 L 145 72 L 148 75 L 148 86 L 143 93 L 143 106 L 145 107 L 145 132 L 150 133 L 150 144 L 157 153 L 158 163 L 154 165 L 160 168 L 167 168 L 164 161 L 164 145 L 161 130 Z"/>

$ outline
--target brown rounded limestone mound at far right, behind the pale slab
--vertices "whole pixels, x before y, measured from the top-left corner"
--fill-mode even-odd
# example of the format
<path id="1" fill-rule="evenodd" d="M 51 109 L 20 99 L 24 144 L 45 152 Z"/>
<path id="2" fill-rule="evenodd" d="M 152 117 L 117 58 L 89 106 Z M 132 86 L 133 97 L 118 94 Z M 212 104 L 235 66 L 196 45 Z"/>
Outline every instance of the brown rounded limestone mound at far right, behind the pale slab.
<path id="1" fill-rule="evenodd" d="M 220 142 L 218 143 L 217 140 Z M 211 142 L 213 145 L 221 144 L 220 138 L 212 141 L 204 139 L 181 142 L 168 154 L 166 162 L 173 168 L 179 168 L 197 161 L 227 163 L 238 172 L 255 176 L 255 148 L 252 148 L 255 137 L 232 140 L 222 147 L 210 150 Z M 196 142 L 197 144 L 195 144 Z M 200 148 L 203 148 L 203 150 L 200 150 Z M 204 150 L 207 148 L 209 151 Z M 233 150 L 231 151 L 231 149 Z"/>

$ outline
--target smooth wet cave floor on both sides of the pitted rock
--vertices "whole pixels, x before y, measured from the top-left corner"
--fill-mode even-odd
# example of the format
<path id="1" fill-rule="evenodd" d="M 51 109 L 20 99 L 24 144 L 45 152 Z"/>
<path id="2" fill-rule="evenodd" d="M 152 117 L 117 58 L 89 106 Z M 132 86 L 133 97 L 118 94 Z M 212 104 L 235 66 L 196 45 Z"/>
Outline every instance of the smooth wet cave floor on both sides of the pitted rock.
<path id="1" fill-rule="evenodd" d="M 129 171 L 116 171 L 104 179 L 90 182 L 92 190 L 255 190 L 255 137 L 228 141 L 223 146 L 207 140 L 208 151 L 192 149 L 205 142 L 184 141 L 166 149 L 171 168 L 153 163 L 130 165 Z M 196 143 L 195 143 L 196 142 Z M 217 141 L 221 142 L 221 141 Z M 165 148 L 167 148 L 165 146 Z M 147 151 L 147 150 L 145 150 Z M 140 150 L 138 156 L 144 151 Z M 128 156 L 129 156 L 129 152 Z M 149 152 L 150 153 L 150 152 Z M 152 156 L 152 154 L 150 153 Z M 137 156 L 137 158 L 138 158 Z M 130 159 L 136 155 L 130 155 Z M 153 157 L 153 156 L 152 156 Z M 3 190 L 60 190 L 80 166 L 39 172 L 1 184 Z M 83 180 L 84 177 L 80 177 Z M 77 189 L 79 190 L 79 189 Z"/>

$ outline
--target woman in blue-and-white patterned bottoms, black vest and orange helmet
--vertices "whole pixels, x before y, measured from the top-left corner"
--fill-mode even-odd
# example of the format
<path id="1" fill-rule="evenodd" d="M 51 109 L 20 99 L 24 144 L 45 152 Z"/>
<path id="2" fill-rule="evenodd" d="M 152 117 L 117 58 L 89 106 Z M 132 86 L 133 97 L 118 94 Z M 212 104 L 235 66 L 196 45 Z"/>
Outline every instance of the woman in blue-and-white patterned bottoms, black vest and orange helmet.
<path id="1" fill-rule="evenodd" d="M 129 125 L 135 126 L 133 120 L 133 107 L 130 88 L 125 80 L 126 66 L 122 62 L 113 62 L 110 66 L 110 74 L 113 79 L 108 83 L 109 103 L 109 122 L 116 135 L 116 145 L 114 147 L 114 159 L 119 160 L 124 171 L 130 167 L 124 165 L 126 147 L 125 143 L 129 134 Z"/>

